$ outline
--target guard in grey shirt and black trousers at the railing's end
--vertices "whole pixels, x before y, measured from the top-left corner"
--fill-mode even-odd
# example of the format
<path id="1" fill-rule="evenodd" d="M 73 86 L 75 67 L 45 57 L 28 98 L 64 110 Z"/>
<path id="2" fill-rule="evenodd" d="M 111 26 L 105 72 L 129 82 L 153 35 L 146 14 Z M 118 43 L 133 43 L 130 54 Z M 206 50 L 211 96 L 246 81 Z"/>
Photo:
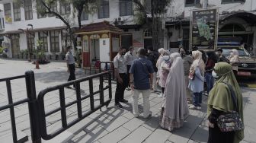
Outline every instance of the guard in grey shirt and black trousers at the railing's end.
<path id="1" fill-rule="evenodd" d="M 117 56 L 114 57 L 114 70 L 117 78 L 117 88 L 115 94 L 115 106 L 122 108 L 123 106 L 120 102 L 127 103 L 128 100 L 123 98 L 123 94 L 127 84 L 127 68 L 124 55 L 126 54 L 126 49 L 121 47 Z"/>

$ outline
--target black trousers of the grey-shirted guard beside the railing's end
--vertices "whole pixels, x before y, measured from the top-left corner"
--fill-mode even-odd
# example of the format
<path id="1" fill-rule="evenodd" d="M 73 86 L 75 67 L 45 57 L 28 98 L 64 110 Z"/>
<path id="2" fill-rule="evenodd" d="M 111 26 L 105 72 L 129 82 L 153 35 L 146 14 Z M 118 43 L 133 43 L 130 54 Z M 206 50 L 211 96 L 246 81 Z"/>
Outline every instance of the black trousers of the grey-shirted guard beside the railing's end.
<path id="1" fill-rule="evenodd" d="M 127 75 L 126 74 L 119 74 L 119 75 L 120 75 L 120 78 L 122 78 L 123 83 L 120 84 L 117 81 L 115 103 L 119 103 L 121 100 L 123 100 L 123 94 L 124 94 L 125 88 L 127 87 Z"/>

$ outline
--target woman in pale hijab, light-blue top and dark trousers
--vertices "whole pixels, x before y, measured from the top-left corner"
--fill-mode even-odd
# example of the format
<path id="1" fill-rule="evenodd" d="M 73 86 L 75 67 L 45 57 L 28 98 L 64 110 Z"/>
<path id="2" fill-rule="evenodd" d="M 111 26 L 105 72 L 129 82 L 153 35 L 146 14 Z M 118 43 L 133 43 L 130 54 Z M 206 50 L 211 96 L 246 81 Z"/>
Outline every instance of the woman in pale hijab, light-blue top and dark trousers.
<path id="1" fill-rule="evenodd" d="M 193 105 L 190 106 L 191 110 L 200 110 L 202 103 L 202 92 L 203 92 L 203 83 L 204 83 L 204 71 L 205 64 L 202 59 L 202 52 L 193 51 L 192 57 L 194 59 L 192 65 L 190 66 L 190 83 L 188 87 L 190 91 L 194 94 Z"/>

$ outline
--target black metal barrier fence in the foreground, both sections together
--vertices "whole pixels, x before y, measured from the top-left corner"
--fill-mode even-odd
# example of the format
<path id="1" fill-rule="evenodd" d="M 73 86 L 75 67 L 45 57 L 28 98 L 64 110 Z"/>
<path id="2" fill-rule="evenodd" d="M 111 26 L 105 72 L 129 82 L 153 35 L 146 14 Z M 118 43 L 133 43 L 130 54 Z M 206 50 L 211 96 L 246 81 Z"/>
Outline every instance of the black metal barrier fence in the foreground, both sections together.
<path id="1" fill-rule="evenodd" d="M 104 76 L 108 77 L 108 85 L 104 87 L 103 80 Z M 20 100 L 18 102 L 13 103 L 12 102 L 12 94 L 11 94 L 11 80 L 14 79 L 20 79 L 24 78 L 26 80 L 26 87 L 27 87 L 27 98 L 24 100 Z M 93 79 L 99 78 L 100 84 L 99 84 L 99 91 L 93 90 Z M 81 97 L 81 91 L 80 91 L 80 83 L 88 81 L 89 82 L 89 91 L 90 94 L 85 97 Z M 110 100 L 112 99 L 112 87 L 111 87 L 111 74 L 109 71 L 101 72 L 97 75 L 91 75 L 85 78 L 80 78 L 75 81 L 69 81 L 65 84 L 59 84 L 54 87 L 48 87 L 44 89 L 43 91 L 40 91 L 38 98 L 36 95 L 36 87 L 35 87 L 35 81 L 34 81 L 34 72 L 33 71 L 27 71 L 25 75 L 16 76 L 12 78 L 3 78 L 0 79 L 0 82 L 6 82 L 6 87 L 8 91 L 8 105 L 0 106 L 0 111 L 10 109 L 10 115 L 11 115 L 11 130 L 12 130 L 12 136 L 13 136 L 13 142 L 18 142 L 17 139 L 17 131 L 16 131 L 16 124 L 15 124 L 15 116 L 14 116 L 14 106 L 18 106 L 22 103 L 28 103 L 29 108 L 29 116 L 30 116 L 30 130 L 31 130 L 31 139 L 34 143 L 41 142 L 41 138 L 45 140 L 50 140 L 51 138 L 54 138 L 56 135 L 59 135 L 61 132 L 64 132 L 66 129 L 69 129 L 71 126 L 74 126 L 75 123 L 81 121 L 82 119 L 85 119 L 85 117 L 89 116 L 91 113 L 94 113 L 96 110 L 101 109 L 103 106 L 108 106 L 110 103 Z M 69 85 L 75 85 L 75 91 L 76 91 L 76 100 L 66 104 L 65 102 L 65 91 L 64 87 L 67 87 Z M 104 101 L 104 91 L 108 89 L 109 97 L 108 100 Z M 47 93 L 50 91 L 59 91 L 59 103 L 60 107 L 52 110 L 48 113 L 45 113 L 44 108 L 44 97 Z M 94 106 L 94 95 L 100 94 L 100 105 Z M 82 100 L 90 98 L 90 108 L 91 110 L 85 114 L 82 113 Z M 78 118 L 67 123 L 66 120 L 66 108 L 69 106 L 72 106 L 74 104 L 77 104 L 78 109 Z M 61 121 L 62 121 L 62 128 L 57 130 L 56 132 L 53 132 L 52 134 L 47 133 L 46 129 L 46 116 L 50 116 L 53 113 L 56 113 L 60 111 L 61 112 Z"/>

